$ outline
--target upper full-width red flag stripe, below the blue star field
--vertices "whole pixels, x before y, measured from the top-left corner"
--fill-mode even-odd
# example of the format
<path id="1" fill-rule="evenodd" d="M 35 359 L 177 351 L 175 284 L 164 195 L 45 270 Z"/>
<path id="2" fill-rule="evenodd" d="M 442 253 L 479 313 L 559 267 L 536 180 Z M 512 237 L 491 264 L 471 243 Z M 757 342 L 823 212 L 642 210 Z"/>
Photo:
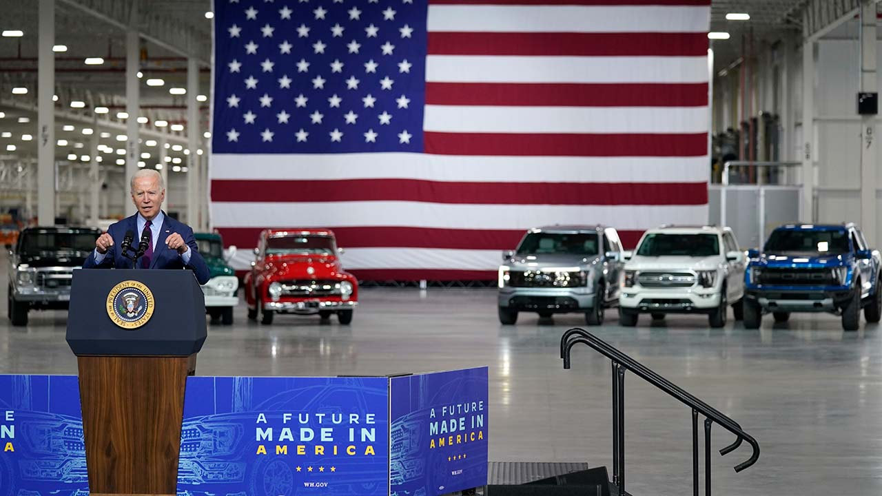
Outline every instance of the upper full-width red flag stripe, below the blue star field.
<path id="1" fill-rule="evenodd" d="M 420 179 L 212 181 L 212 201 L 475 205 L 704 205 L 706 183 L 460 183 Z"/>

